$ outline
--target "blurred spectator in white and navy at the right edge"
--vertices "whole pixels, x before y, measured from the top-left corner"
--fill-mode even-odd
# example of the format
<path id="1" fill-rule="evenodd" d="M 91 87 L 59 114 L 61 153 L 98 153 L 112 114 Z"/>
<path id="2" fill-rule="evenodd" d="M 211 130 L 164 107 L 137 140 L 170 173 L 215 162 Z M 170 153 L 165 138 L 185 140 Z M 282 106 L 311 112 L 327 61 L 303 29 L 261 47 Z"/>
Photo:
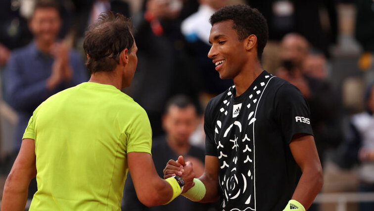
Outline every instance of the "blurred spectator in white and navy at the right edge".
<path id="1" fill-rule="evenodd" d="M 359 191 L 374 192 L 374 83 L 366 90 L 365 106 L 366 111 L 350 118 L 335 161 L 345 168 L 358 163 Z M 359 210 L 373 211 L 374 203 L 360 203 Z"/>

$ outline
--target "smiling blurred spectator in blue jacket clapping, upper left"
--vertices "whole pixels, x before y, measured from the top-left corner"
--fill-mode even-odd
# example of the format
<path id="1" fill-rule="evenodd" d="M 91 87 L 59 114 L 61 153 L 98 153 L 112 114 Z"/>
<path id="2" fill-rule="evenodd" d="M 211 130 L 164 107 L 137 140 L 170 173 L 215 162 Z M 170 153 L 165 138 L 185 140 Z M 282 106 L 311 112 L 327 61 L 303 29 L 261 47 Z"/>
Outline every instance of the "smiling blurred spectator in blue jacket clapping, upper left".
<path id="1" fill-rule="evenodd" d="M 6 100 L 18 112 L 14 158 L 33 111 L 49 96 L 87 80 L 75 51 L 56 38 L 61 26 L 55 1 L 40 0 L 30 19 L 34 41 L 12 52 L 5 73 Z M 12 164 L 12 161 L 11 163 Z"/>

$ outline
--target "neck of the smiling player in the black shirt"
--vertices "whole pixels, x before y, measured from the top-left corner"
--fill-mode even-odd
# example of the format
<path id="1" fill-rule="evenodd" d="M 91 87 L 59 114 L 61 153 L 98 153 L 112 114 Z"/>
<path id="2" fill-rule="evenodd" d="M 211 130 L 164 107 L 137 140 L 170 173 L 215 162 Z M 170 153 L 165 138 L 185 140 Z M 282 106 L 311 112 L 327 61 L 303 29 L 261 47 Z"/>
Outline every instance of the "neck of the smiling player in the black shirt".
<path id="1" fill-rule="evenodd" d="M 235 97 L 243 94 L 262 71 L 263 69 L 260 61 L 257 59 L 257 55 L 249 56 L 239 74 L 233 78 L 236 89 Z"/>

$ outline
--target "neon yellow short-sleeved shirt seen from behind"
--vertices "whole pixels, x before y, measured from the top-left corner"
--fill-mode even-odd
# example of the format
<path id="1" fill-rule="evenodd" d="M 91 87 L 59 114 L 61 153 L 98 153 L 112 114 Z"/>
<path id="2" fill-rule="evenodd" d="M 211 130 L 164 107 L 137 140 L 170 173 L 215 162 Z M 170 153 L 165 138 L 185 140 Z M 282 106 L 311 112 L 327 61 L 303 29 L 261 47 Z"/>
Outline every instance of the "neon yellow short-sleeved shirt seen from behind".
<path id="1" fill-rule="evenodd" d="M 151 153 L 145 110 L 111 85 L 82 83 L 33 113 L 38 191 L 30 211 L 120 211 L 127 154 Z"/>

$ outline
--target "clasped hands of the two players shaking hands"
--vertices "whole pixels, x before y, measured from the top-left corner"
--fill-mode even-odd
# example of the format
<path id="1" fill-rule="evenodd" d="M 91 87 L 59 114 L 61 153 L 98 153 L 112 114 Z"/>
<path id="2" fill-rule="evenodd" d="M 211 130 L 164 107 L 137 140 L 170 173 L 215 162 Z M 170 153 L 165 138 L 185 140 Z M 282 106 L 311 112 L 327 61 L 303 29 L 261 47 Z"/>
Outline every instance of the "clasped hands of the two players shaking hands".
<path id="1" fill-rule="evenodd" d="M 185 193 L 187 190 L 192 188 L 195 183 L 193 178 L 195 178 L 195 172 L 192 168 L 192 163 L 187 161 L 185 162 L 183 156 L 180 156 L 178 160 L 169 160 L 164 168 L 164 179 L 169 177 L 179 175 L 185 181 L 185 186 L 182 193 Z"/>

